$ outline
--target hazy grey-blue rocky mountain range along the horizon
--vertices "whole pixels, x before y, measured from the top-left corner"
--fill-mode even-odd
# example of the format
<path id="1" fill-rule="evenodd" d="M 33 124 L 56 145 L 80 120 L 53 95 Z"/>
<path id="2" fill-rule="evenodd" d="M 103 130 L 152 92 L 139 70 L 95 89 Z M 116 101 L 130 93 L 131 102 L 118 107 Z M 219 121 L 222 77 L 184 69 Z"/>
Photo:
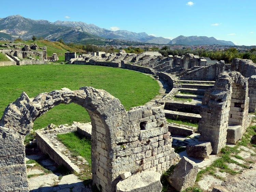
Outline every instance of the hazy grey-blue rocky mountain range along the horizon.
<path id="1" fill-rule="evenodd" d="M 6 34 L 14 38 L 24 40 L 31 39 L 33 35 L 51 41 L 62 39 L 65 42 L 81 43 L 86 40 L 120 39 L 133 42 L 153 44 L 182 44 L 182 45 L 203 45 L 219 44 L 234 45 L 230 41 L 216 40 L 206 36 L 179 36 L 172 41 L 170 39 L 155 37 L 145 32 L 135 33 L 126 30 L 111 31 L 100 28 L 93 24 L 77 21 L 55 21 L 33 20 L 21 15 L 12 15 L 0 18 L 0 40 L 7 39 Z"/>

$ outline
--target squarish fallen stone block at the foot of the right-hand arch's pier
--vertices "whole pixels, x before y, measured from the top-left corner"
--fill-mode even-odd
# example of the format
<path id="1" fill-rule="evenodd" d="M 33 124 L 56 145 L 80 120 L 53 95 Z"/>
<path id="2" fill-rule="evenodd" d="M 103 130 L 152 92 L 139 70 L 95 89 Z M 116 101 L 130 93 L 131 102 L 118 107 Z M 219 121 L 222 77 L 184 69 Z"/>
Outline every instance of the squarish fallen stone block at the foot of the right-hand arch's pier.
<path id="1" fill-rule="evenodd" d="M 211 142 L 204 142 L 198 145 L 187 145 L 186 151 L 188 156 L 197 158 L 209 158 L 212 152 Z"/>

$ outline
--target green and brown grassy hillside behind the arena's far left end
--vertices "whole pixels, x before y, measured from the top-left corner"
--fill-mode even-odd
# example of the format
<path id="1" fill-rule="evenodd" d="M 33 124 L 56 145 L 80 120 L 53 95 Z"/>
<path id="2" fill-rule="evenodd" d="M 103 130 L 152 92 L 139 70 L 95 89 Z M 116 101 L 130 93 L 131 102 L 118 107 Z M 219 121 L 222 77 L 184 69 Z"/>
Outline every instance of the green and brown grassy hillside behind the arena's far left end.
<path id="1" fill-rule="evenodd" d="M 72 48 L 72 47 L 69 47 L 62 43 L 55 42 L 55 41 L 38 40 L 35 42 L 29 41 L 29 42 L 22 42 L 22 43 L 25 43 L 27 45 L 30 45 L 31 43 L 36 43 L 39 47 L 46 46 L 47 47 L 47 56 L 52 56 L 53 53 L 56 53 L 59 57 L 59 60 L 65 59 L 65 53 L 67 51 L 69 51 L 69 52 L 82 52 L 83 51 L 81 49 Z"/>

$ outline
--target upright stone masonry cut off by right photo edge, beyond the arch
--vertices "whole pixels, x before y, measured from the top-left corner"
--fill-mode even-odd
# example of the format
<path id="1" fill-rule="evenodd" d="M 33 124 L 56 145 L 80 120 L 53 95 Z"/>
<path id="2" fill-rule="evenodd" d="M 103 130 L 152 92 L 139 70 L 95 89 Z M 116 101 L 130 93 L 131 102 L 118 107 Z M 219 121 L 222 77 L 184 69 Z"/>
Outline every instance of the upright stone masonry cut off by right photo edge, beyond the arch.
<path id="1" fill-rule="evenodd" d="M 255 113 L 256 106 L 256 75 L 248 79 L 249 113 Z"/>

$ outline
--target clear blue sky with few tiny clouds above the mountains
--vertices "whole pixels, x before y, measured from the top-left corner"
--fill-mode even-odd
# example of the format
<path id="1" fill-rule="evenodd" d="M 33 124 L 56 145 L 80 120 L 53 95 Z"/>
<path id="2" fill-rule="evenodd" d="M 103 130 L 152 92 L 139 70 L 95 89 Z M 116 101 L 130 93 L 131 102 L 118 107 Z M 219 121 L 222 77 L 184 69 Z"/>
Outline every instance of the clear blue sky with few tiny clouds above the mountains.
<path id="1" fill-rule="evenodd" d="M 1 0 L 0 18 L 69 20 L 175 38 L 213 36 L 256 45 L 256 0 Z"/>

